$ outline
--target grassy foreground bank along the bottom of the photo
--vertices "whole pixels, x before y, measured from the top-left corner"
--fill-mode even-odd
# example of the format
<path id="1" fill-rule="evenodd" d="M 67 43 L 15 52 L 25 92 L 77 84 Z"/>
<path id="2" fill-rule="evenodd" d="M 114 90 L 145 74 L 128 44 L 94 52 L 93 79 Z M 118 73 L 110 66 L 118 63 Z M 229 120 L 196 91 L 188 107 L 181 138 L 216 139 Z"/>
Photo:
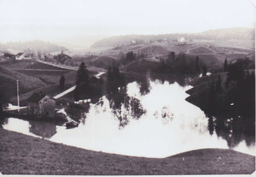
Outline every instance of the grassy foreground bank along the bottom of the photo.
<path id="1" fill-rule="evenodd" d="M 3 174 L 252 174 L 254 170 L 255 156 L 230 149 L 142 158 L 88 151 L 0 128 Z"/>

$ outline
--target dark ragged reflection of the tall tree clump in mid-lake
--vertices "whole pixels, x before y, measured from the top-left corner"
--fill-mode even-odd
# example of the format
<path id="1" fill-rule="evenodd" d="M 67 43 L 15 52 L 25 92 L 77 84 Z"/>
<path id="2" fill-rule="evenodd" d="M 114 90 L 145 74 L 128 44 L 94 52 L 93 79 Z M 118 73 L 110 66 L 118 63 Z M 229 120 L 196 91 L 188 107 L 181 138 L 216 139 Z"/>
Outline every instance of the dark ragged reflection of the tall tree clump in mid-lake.
<path id="1" fill-rule="evenodd" d="M 113 86 L 112 86 L 113 88 Z M 123 128 L 128 124 L 129 118 L 139 119 L 146 110 L 142 108 L 139 99 L 126 94 L 126 87 L 111 89 L 107 94 L 110 101 L 112 113 L 119 120 L 119 127 Z M 100 101 L 98 104 L 102 104 Z"/>

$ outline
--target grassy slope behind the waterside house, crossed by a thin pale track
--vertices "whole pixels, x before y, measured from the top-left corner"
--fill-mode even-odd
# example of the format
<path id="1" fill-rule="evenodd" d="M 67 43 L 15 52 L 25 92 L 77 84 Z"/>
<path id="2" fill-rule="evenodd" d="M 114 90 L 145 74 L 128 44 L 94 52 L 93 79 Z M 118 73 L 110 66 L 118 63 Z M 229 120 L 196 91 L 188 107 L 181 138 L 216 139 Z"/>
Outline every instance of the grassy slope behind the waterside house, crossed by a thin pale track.
<path id="1" fill-rule="evenodd" d="M 13 71 L 12 69 L 55 69 L 66 71 Z M 30 97 L 34 92 L 40 91 L 55 96 L 62 92 L 58 88 L 61 74 L 65 76 L 66 88 L 72 87 L 76 80 L 76 71 L 69 71 L 68 69 L 62 69 L 32 60 L 3 62 L 0 63 L 0 88 L 6 88 L 4 92 L 10 97 L 10 102 L 14 104 L 17 104 L 16 80 L 19 80 L 21 101 Z"/>

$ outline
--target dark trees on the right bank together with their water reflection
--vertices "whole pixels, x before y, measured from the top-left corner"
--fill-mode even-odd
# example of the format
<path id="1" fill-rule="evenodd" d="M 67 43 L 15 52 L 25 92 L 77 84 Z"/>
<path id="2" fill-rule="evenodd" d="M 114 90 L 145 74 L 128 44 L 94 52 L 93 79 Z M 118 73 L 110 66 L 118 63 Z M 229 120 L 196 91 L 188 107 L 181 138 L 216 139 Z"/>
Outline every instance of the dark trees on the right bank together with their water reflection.
<path id="1" fill-rule="evenodd" d="M 235 142 L 228 142 L 230 146 L 231 143 L 232 146 L 238 144 L 242 134 L 254 136 L 255 141 L 255 73 L 246 70 L 241 61 L 225 65 L 226 62 L 226 74 L 211 81 L 207 96 L 201 96 L 201 108 L 210 117 L 209 130 L 212 132 L 215 129 L 218 136 L 225 135 L 229 140 L 225 122 L 228 117 L 235 135 Z M 212 115 L 216 117 L 215 123 Z M 246 140 L 246 143 L 249 142 Z"/>

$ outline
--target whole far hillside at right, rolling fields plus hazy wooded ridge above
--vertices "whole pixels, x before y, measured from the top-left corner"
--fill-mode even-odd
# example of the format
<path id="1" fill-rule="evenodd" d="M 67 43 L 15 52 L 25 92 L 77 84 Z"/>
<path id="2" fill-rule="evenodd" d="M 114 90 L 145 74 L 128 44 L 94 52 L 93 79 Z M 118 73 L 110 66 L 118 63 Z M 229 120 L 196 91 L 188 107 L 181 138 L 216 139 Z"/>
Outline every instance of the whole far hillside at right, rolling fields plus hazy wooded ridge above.
<path id="1" fill-rule="evenodd" d="M 176 55 L 186 53 L 193 58 L 199 56 L 201 62 L 204 62 L 210 70 L 223 67 L 225 59 L 228 62 L 238 58 L 255 61 L 254 30 L 251 28 L 228 28 L 191 34 L 123 35 L 99 40 L 92 45 L 92 49 L 98 49 L 94 53 L 94 60 L 98 56 L 119 59 L 120 53 L 126 56 L 126 53 L 133 51 L 137 56 L 146 56 L 142 59 L 157 62 L 160 58 L 166 58 L 171 52 L 175 52 Z M 139 64 L 141 67 L 145 60 Z M 92 59 L 86 61 L 94 64 Z M 124 70 L 137 71 L 132 67 L 137 68 L 137 64 L 122 66 Z"/>

